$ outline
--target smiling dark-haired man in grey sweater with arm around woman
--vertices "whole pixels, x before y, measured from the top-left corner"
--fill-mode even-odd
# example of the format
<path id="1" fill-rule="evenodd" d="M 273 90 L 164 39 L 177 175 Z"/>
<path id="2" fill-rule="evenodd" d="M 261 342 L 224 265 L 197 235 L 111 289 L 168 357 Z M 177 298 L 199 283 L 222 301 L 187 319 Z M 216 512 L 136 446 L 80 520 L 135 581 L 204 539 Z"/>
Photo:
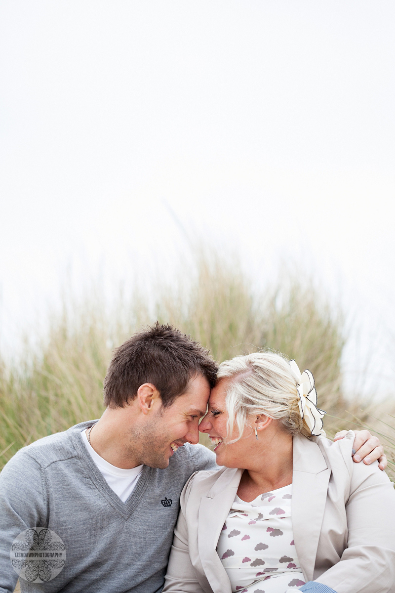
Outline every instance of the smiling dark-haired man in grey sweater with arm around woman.
<path id="1" fill-rule="evenodd" d="M 207 350 L 158 323 L 115 350 L 101 419 L 21 449 L 0 474 L 1 593 L 17 581 L 10 550 L 18 558 L 29 541 L 38 556 L 21 591 L 161 591 L 182 487 L 217 468 L 198 445 L 216 372 Z M 368 441 L 361 454 L 371 449 Z M 55 534 L 65 560 L 38 560 L 55 549 L 40 533 Z"/>

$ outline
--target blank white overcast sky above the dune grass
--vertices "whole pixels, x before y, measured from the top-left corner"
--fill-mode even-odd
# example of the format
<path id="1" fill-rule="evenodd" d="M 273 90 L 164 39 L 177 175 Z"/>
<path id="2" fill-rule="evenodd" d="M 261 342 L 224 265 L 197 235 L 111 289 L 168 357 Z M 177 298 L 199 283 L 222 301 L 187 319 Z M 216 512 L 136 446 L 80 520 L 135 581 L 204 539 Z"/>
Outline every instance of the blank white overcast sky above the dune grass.
<path id="1" fill-rule="evenodd" d="M 70 264 L 171 266 L 165 200 L 256 278 L 314 270 L 363 334 L 349 388 L 391 389 L 394 30 L 392 0 L 3 0 L 0 346 Z"/>

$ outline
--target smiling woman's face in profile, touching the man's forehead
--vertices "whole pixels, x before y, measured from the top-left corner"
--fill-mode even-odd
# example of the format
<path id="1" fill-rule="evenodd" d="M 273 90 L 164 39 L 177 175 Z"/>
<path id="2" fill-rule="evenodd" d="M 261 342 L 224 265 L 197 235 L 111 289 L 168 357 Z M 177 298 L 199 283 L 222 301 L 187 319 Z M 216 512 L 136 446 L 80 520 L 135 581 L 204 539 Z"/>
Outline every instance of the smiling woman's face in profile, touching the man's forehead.
<path id="1" fill-rule="evenodd" d="M 235 426 L 232 435 L 228 438 L 226 436 L 228 415 L 225 398 L 228 385 L 229 379 L 221 379 L 211 390 L 208 412 L 201 421 L 199 430 L 210 436 L 219 466 L 248 469 L 248 463 L 251 463 L 251 449 L 254 445 L 256 447 L 255 431 L 251 426 L 246 426 L 242 438 L 229 443 L 237 437 L 238 433 Z"/>

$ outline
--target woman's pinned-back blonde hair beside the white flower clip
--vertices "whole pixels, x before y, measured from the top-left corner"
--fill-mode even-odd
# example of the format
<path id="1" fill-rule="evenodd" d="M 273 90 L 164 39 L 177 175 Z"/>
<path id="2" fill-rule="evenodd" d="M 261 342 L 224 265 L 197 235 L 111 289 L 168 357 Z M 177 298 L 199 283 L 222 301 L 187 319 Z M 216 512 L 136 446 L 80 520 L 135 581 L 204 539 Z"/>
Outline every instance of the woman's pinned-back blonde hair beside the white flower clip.
<path id="1" fill-rule="evenodd" d="M 291 435 L 311 438 L 301 418 L 296 377 L 285 356 L 275 352 L 254 352 L 220 364 L 218 379 L 230 379 L 226 394 L 227 433 L 237 426 L 241 438 L 251 416 L 265 415 L 278 420 Z M 232 441 L 232 442 L 234 442 Z"/>

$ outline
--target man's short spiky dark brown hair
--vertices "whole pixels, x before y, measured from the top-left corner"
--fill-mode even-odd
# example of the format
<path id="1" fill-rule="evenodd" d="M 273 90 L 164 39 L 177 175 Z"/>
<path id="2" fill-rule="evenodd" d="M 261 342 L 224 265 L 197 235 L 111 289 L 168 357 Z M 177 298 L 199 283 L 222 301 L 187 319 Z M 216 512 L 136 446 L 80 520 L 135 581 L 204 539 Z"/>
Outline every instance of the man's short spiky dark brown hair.
<path id="1" fill-rule="evenodd" d="M 134 400 L 140 385 L 152 383 L 167 407 L 185 393 L 195 375 L 203 375 L 214 387 L 217 371 L 208 350 L 178 329 L 157 321 L 115 350 L 104 379 L 104 405 L 123 407 Z"/>

